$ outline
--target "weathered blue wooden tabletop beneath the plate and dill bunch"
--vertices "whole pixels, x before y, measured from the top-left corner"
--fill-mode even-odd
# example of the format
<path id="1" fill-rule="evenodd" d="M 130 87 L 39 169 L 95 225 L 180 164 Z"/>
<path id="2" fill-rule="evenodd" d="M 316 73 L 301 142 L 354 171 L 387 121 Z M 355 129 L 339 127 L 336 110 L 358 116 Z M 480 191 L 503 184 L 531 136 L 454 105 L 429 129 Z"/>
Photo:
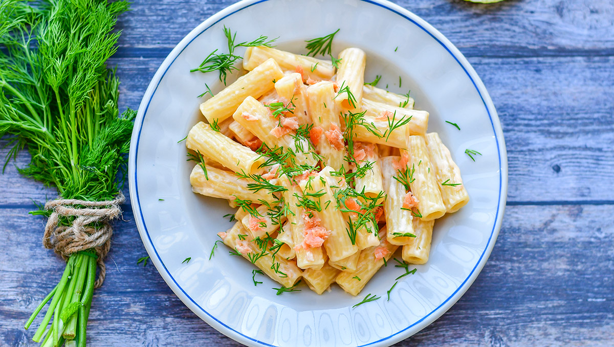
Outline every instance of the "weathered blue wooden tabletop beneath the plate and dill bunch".
<path id="1" fill-rule="evenodd" d="M 111 59 L 120 109 L 138 108 L 174 45 L 233 2 L 134 1 Z M 614 2 L 395 2 L 433 24 L 478 72 L 499 111 L 510 170 L 503 228 L 480 276 L 397 346 L 612 346 Z M 28 160 L 23 152 L 16 164 Z M 42 248 L 44 220 L 28 215 L 33 201 L 55 196 L 12 163 L 0 176 L 1 346 L 33 345 L 23 323 L 64 269 Z M 127 222 L 115 224 L 106 282 L 93 298 L 90 344 L 238 346 L 190 312 L 151 264 L 136 264 L 146 251 L 130 204 L 123 209 Z"/>

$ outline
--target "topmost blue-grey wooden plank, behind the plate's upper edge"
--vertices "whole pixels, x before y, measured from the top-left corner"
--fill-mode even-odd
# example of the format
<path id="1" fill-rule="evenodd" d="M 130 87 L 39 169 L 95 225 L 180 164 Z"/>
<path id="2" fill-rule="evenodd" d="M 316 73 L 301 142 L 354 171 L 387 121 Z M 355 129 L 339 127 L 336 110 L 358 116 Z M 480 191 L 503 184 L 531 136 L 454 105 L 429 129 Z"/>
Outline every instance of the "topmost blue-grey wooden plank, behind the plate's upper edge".
<path id="1" fill-rule="evenodd" d="M 134 1 L 122 18 L 122 47 L 173 48 L 201 21 L 233 0 Z M 612 55 L 610 0 L 397 0 L 441 31 L 469 56 Z M 156 30 L 164 23 L 163 30 Z M 152 28 L 154 28 L 152 30 Z"/>

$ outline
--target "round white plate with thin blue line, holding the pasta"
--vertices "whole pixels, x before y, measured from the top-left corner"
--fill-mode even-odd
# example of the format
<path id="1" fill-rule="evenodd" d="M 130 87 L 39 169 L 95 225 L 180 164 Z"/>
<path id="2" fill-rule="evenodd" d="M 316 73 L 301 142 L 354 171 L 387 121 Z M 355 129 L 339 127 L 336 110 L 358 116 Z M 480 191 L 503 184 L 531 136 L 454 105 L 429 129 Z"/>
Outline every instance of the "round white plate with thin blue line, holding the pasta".
<path id="1" fill-rule="evenodd" d="M 389 301 L 386 291 L 403 272 L 394 266 L 381 269 L 359 297 L 337 286 L 322 296 L 306 288 L 276 296 L 276 282 L 259 275 L 264 283 L 254 286 L 252 264 L 230 256 L 224 245 L 209 260 L 216 233 L 231 226 L 222 215 L 232 210 L 192 193 L 193 162 L 185 161 L 185 143 L 177 141 L 204 119 L 196 97 L 204 84 L 214 92 L 223 88 L 217 73 L 189 70 L 212 50 L 225 51 L 224 25 L 238 32 L 239 42 L 279 36 L 279 48 L 298 53 L 306 53 L 304 40 L 341 28 L 333 54 L 362 48 L 365 80 L 383 75 L 378 86 L 402 94 L 411 89 L 416 108 L 430 112 L 429 131 L 440 133 L 451 150 L 471 200 L 435 223 L 429 262 L 399 280 Z M 467 148 L 482 155 L 473 162 Z M 480 78 L 452 43 L 413 13 L 379 0 L 248 0 L 200 24 L 153 76 L 134 124 L 130 195 L 142 241 L 166 283 L 228 337 L 249 346 L 389 346 L 446 312 L 486 263 L 505 207 L 507 155 Z M 367 293 L 381 299 L 352 308 Z"/>

